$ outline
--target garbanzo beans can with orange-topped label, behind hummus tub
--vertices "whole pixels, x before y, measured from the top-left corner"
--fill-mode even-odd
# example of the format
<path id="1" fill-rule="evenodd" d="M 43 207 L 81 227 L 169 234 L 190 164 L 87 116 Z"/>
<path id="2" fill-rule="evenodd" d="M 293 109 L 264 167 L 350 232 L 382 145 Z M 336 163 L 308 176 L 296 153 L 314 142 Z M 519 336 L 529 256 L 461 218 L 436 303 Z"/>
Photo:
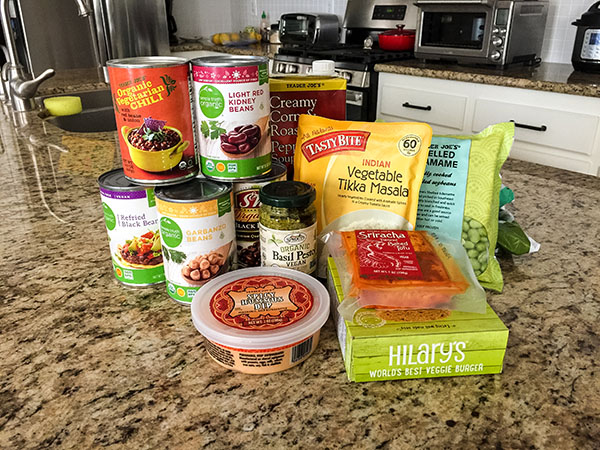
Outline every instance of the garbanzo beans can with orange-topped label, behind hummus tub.
<path id="1" fill-rule="evenodd" d="M 194 178 L 155 189 L 167 292 L 189 305 L 200 286 L 229 270 L 235 255 L 232 187 Z"/>

